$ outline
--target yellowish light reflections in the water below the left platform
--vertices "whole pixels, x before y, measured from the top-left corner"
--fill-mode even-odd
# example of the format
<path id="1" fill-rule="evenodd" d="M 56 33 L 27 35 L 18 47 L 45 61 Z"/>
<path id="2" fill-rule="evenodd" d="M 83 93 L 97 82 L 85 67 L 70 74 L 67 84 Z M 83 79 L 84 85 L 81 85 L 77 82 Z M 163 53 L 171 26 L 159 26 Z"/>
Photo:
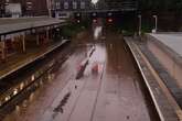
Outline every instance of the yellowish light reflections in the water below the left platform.
<path id="1" fill-rule="evenodd" d="M 34 100 L 35 90 L 55 78 L 57 66 L 61 65 L 57 65 L 55 61 L 50 61 L 33 73 L 26 74 L 25 77 L 14 79 L 17 84 L 0 95 L 0 113 L 3 113 L 0 121 L 12 112 L 18 116 L 25 113 L 26 108 Z"/>

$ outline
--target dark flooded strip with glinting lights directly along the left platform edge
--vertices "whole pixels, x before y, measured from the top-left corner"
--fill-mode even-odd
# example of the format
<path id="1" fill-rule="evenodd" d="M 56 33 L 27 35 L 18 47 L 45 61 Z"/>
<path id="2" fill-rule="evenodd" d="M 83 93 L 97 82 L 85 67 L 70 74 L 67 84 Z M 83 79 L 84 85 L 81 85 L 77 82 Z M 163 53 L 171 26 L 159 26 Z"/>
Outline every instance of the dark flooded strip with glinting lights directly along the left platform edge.
<path id="1" fill-rule="evenodd" d="M 58 51 L 63 52 L 60 54 Z M 13 82 L 12 86 L 9 88 L 7 87 L 7 89 L 1 85 L 0 120 L 3 120 L 17 106 L 26 100 L 41 85 L 51 81 L 55 77 L 54 72 L 62 66 L 71 54 L 72 52 L 63 46 L 63 48 L 53 51 L 43 58 L 40 58 L 33 64 L 15 72 L 15 74 L 2 79 L 1 81 L 14 81 L 15 84 Z M 20 73 L 23 75 L 19 75 Z"/>

